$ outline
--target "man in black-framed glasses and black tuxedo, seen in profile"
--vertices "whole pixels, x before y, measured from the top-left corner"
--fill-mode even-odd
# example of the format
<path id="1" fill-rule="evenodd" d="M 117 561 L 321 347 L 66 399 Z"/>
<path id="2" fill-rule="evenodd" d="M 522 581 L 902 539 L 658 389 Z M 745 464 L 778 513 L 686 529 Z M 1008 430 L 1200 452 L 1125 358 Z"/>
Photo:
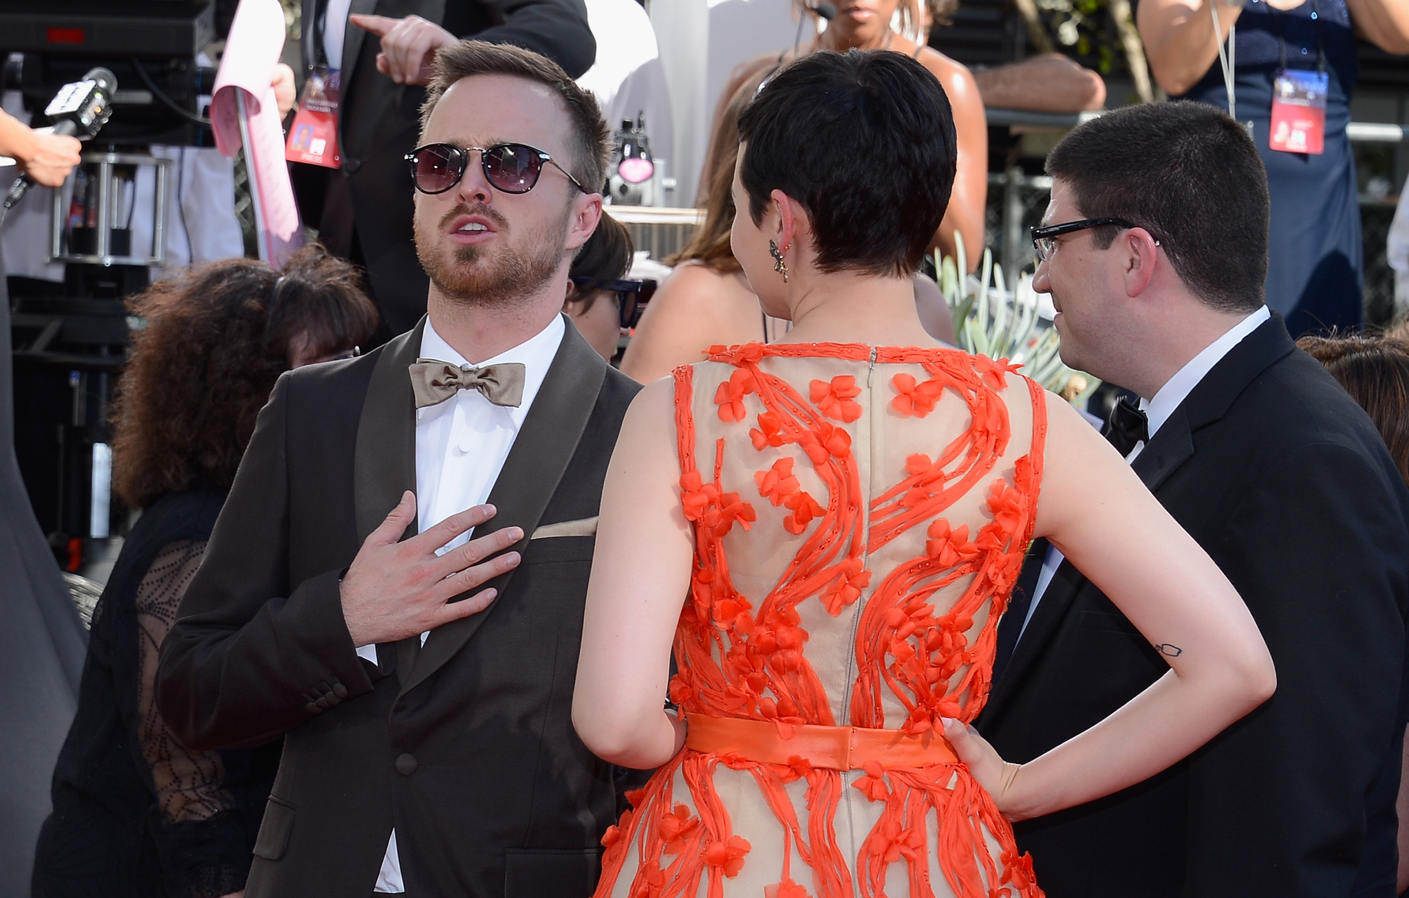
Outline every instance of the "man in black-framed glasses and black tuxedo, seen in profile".
<path id="1" fill-rule="evenodd" d="M 1117 405 L 1112 442 L 1243 595 L 1277 694 L 1162 774 L 1019 823 L 1017 843 L 1051 898 L 1391 895 L 1409 493 L 1365 414 L 1262 303 L 1257 149 L 1219 110 L 1141 106 L 1074 129 L 1047 170 L 1044 224 L 1067 227 L 1034 229 L 1033 286 L 1058 308 L 1062 360 L 1143 397 Z M 1148 645 L 1037 545 L 975 725 L 1027 761 L 1179 650 Z"/>

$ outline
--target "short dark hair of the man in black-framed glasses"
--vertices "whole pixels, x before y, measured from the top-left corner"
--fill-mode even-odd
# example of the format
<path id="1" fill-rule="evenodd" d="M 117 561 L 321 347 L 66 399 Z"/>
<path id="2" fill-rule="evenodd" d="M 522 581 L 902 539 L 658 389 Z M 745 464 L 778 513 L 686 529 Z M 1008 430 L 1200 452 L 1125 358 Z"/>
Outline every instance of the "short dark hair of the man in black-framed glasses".
<path id="1" fill-rule="evenodd" d="M 1124 218 L 1150 231 L 1210 308 L 1262 305 L 1267 170 L 1247 131 L 1223 110 L 1177 101 L 1106 113 L 1053 148 L 1047 173 L 1071 184 L 1084 217 Z M 1110 246 L 1117 231 L 1096 228 L 1096 246 Z"/>

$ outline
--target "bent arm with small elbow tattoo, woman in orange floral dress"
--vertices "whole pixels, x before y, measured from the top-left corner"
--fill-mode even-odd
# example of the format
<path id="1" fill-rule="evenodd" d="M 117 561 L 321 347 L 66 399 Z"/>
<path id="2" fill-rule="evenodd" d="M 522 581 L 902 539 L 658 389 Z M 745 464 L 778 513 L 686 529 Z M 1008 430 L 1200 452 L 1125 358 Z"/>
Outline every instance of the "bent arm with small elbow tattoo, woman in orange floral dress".
<path id="1" fill-rule="evenodd" d="M 1271 697 L 1272 659 L 1247 605 L 1130 466 L 1067 404 L 1048 404 L 1034 535 L 1047 536 L 1154 645 L 1169 671 L 1027 764 L 945 726 L 1013 819 L 1085 804 L 1169 767 Z"/>

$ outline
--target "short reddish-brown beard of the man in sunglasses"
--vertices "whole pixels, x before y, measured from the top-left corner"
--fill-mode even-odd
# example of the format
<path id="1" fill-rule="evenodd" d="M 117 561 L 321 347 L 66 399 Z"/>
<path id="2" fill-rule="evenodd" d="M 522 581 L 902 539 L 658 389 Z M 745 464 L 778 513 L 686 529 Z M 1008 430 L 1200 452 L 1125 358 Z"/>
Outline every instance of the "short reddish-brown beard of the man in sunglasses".
<path id="1" fill-rule="evenodd" d="M 483 215 L 497 228 L 497 252 L 483 246 L 455 246 L 445 239 L 445 228 L 457 215 Z M 562 245 L 568 236 L 569 217 L 548 222 L 537 232 L 526 232 L 527 252 L 509 242 L 509 221 L 488 205 L 457 205 L 435 229 L 414 228 L 416 256 L 441 294 L 462 305 L 514 305 L 552 280 L 562 265 Z"/>

